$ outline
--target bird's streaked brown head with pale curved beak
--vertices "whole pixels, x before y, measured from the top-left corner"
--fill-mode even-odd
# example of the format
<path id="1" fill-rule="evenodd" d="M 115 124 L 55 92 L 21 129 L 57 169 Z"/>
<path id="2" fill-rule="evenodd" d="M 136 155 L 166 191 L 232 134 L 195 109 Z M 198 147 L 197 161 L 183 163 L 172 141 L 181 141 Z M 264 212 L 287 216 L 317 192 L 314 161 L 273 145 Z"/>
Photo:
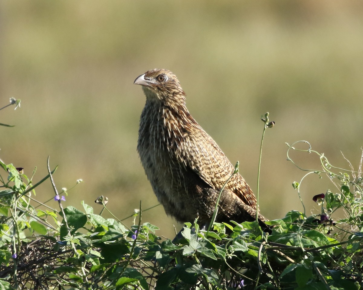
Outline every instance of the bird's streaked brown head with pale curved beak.
<path id="1" fill-rule="evenodd" d="M 149 101 L 166 104 L 185 101 L 185 93 L 181 89 L 178 79 L 169 70 L 148 70 L 136 78 L 134 84 L 142 85 L 142 89 Z"/>

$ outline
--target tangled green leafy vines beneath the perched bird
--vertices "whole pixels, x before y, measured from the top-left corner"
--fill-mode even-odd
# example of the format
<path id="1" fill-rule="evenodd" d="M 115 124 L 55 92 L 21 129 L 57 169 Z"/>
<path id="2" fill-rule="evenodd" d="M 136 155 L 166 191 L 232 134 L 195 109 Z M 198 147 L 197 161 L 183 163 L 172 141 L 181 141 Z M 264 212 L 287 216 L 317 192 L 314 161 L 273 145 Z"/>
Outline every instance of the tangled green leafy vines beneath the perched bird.
<path id="1" fill-rule="evenodd" d="M 270 235 L 256 222 L 214 223 L 209 232 L 195 223 L 171 241 L 158 237 L 156 226 L 141 222 L 141 210 L 138 224 L 129 229 L 83 202 L 81 210 L 56 210 L 50 205 L 62 201 L 52 199 L 37 209 L 33 177 L 12 164 L 0 166 L 4 289 L 301 290 L 359 289 L 363 283 L 362 192 L 345 174 L 339 178 L 340 192 L 328 191 L 322 203 L 323 213 L 344 208 L 348 217 L 342 220 L 291 211 L 268 222 Z"/>

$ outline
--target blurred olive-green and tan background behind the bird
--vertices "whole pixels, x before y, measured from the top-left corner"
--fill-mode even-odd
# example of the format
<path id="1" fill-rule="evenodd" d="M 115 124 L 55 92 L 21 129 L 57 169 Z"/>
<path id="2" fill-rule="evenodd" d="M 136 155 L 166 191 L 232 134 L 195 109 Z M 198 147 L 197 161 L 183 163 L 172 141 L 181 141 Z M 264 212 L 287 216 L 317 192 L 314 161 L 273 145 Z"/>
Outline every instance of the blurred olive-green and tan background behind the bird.
<path id="1" fill-rule="evenodd" d="M 0 158 L 24 167 L 34 181 L 50 155 L 65 205 L 104 195 L 119 218 L 157 204 L 136 152 L 145 97 L 134 79 L 146 70 L 174 72 L 193 117 L 216 140 L 256 191 L 266 111 L 260 208 L 270 219 L 302 210 L 291 183 L 305 172 L 286 161 L 285 142 L 308 140 L 331 163 L 358 168 L 362 143 L 362 1 L 1 1 Z M 294 153 L 320 169 L 313 154 Z M 313 195 L 334 189 L 309 177 L 301 193 L 307 214 Z M 36 198 L 54 193 L 42 185 Z M 56 203 L 52 204 L 54 207 Z M 106 217 L 110 217 L 107 213 Z M 143 221 L 173 236 L 161 206 Z M 132 220 L 126 221 L 131 224 Z"/>

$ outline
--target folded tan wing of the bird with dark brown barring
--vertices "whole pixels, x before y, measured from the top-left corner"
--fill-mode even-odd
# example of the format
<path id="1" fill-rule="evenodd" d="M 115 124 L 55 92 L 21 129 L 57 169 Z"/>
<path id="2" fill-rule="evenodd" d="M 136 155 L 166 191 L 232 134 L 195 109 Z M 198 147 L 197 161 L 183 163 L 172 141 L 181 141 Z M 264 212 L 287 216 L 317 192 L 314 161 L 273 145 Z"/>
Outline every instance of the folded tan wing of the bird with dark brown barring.
<path id="1" fill-rule="evenodd" d="M 190 134 L 184 134 L 180 145 L 176 156 L 178 161 L 191 168 L 211 187 L 221 189 L 233 174 L 234 166 L 199 125 Z M 232 176 L 225 188 L 230 189 L 242 203 L 256 208 L 256 197 L 239 173 Z"/>

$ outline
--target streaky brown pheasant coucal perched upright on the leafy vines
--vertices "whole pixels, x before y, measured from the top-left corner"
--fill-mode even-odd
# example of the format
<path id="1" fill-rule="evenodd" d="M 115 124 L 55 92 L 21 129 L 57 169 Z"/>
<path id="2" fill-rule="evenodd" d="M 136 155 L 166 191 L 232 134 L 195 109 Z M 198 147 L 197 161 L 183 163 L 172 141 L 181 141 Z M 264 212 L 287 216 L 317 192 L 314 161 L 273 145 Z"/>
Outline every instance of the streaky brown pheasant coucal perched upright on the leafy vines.
<path id="1" fill-rule="evenodd" d="M 134 83 L 142 85 L 146 95 L 137 149 L 155 195 L 177 221 L 199 217 L 198 223 L 207 225 L 234 166 L 189 114 L 185 93 L 172 72 L 149 70 Z M 256 220 L 256 207 L 252 190 L 234 174 L 223 189 L 216 221 Z M 262 215 L 258 220 L 270 232 Z"/>

